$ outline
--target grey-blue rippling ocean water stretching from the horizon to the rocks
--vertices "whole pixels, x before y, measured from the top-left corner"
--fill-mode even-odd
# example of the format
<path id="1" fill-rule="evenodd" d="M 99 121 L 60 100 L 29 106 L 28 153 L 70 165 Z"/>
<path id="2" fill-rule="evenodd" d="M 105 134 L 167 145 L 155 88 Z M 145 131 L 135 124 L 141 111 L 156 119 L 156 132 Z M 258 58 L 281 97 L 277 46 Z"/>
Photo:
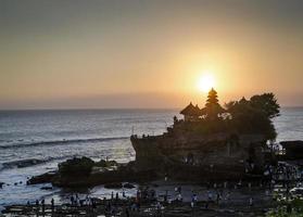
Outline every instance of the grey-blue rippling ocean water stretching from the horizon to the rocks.
<path id="1" fill-rule="evenodd" d="M 41 189 L 48 184 L 26 186 L 26 180 L 73 156 L 129 162 L 135 158 L 130 135 L 163 133 L 174 115 L 178 110 L 1 111 L 0 209 L 40 197 L 63 201 L 68 192 Z M 278 142 L 303 140 L 303 107 L 282 108 L 274 123 Z M 100 187 L 85 193 L 106 196 L 111 192 Z"/>

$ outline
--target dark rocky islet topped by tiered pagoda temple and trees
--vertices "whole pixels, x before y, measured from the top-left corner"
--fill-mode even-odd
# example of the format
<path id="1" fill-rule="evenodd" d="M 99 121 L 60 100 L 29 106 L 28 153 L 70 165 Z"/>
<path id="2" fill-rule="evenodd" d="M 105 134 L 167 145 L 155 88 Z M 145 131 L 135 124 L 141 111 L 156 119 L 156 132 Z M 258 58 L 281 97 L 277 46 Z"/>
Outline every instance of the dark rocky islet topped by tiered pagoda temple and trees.
<path id="1" fill-rule="evenodd" d="M 178 176 L 180 169 L 189 171 L 189 177 L 207 174 L 213 179 L 262 176 L 270 161 L 266 142 L 272 128 L 270 123 L 268 129 L 257 127 L 265 120 L 263 115 L 257 116 L 260 110 L 255 112 L 253 103 L 239 101 L 223 108 L 212 89 L 203 108 L 190 103 L 180 112 L 184 119 L 174 117 L 167 132 L 131 136 L 136 163 L 165 173 L 174 168 L 173 176 Z"/>

